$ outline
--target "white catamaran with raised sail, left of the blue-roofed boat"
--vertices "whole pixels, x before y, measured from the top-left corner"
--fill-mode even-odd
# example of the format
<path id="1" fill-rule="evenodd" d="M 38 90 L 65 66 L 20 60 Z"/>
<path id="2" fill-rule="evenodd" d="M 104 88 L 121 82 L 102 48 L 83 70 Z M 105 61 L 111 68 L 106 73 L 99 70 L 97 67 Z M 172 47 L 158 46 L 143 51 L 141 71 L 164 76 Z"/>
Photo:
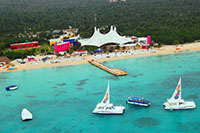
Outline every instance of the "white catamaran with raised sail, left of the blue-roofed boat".
<path id="1" fill-rule="evenodd" d="M 123 114 L 125 107 L 124 106 L 114 106 L 110 103 L 110 87 L 108 82 L 107 91 L 101 103 L 96 105 L 96 108 L 92 113 L 94 114 L 103 114 L 103 115 L 111 115 L 111 114 Z"/>

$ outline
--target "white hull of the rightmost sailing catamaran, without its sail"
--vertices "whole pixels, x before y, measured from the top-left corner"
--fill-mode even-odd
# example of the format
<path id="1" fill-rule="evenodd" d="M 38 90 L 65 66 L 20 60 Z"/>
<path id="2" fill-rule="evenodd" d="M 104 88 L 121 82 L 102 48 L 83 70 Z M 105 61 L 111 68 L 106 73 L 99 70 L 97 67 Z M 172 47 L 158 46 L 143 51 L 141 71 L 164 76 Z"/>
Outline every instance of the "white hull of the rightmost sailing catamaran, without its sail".
<path id="1" fill-rule="evenodd" d="M 181 105 L 171 105 L 168 102 L 163 104 L 166 110 L 185 110 L 185 109 L 195 109 L 196 105 L 193 101 L 185 101 Z"/>

